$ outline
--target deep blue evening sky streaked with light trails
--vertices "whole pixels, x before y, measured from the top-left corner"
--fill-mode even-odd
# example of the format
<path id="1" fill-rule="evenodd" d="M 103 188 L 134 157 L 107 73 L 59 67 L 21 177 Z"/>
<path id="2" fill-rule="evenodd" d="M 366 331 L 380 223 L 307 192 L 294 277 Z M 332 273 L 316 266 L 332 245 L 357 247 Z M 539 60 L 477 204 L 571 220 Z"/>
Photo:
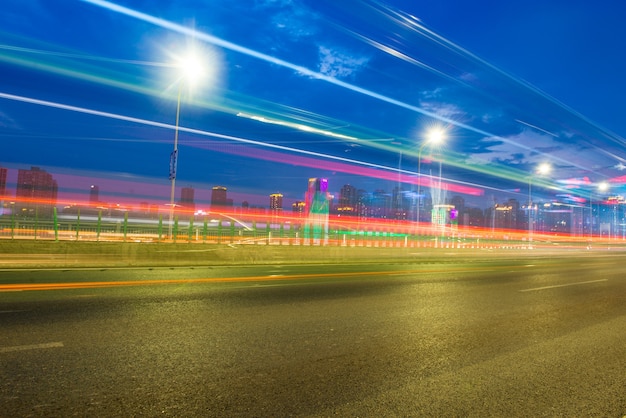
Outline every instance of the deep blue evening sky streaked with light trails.
<path id="1" fill-rule="evenodd" d="M 529 178 L 546 200 L 621 194 L 624 16 L 609 0 L 4 0 L 0 166 L 165 202 L 180 87 L 177 186 L 199 201 L 215 185 L 301 200 L 309 177 L 415 188 L 434 126 L 422 181 L 441 162 L 448 196 L 524 201 Z"/>

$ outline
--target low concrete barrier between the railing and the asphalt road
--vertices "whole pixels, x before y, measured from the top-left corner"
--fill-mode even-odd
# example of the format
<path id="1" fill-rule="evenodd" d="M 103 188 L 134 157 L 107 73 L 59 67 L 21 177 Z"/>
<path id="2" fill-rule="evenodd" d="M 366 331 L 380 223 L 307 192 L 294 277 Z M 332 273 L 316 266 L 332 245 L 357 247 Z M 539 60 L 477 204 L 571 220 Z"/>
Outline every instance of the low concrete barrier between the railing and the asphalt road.
<path id="1" fill-rule="evenodd" d="M 585 249 L 416 248 L 315 245 L 230 245 L 197 243 L 0 240 L 0 269 L 209 266 L 289 263 L 414 262 L 450 257 L 513 258 Z"/>

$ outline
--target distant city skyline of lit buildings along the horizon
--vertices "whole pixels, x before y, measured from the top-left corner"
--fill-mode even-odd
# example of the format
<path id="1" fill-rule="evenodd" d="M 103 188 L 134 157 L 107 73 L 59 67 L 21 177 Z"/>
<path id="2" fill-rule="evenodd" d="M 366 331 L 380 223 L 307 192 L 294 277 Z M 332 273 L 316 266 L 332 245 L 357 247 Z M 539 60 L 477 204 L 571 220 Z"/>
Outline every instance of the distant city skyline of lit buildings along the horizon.
<path id="1" fill-rule="evenodd" d="M 71 203 L 57 201 L 58 183 L 51 173 L 40 167 L 18 171 L 20 180 L 14 185 L 15 196 L 12 196 L 7 192 L 4 183 L 7 172 L 6 168 L 0 167 L 0 190 L 4 189 L 4 194 L 0 195 L 0 204 L 4 209 L 8 209 L 8 212 L 2 211 L 0 214 L 9 214 L 11 219 L 15 215 L 32 219 L 52 218 L 52 207 L 57 207 L 59 213 L 73 213 L 77 217 L 81 209 L 87 214 L 99 212 L 101 215 L 104 211 L 107 216 L 129 212 L 134 213 L 131 216 L 140 218 L 159 217 L 163 216 L 164 212 L 169 212 L 169 205 L 163 205 L 160 201 L 134 200 L 127 204 L 102 201 L 99 195 L 100 187 L 97 184 L 91 184 L 87 195 L 78 201 Z M 586 236 L 594 230 L 599 234 L 626 236 L 624 197 L 606 193 L 598 193 L 595 202 L 589 200 L 576 205 L 553 199 L 544 203 L 533 201 L 532 206 L 528 206 L 529 202 L 509 198 L 505 202 L 494 200 L 491 206 L 480 209 L 466 206 L 465 199 L 460 195 L 446 197 L 441 201 L 438 190 L 425 190 L 418 196 L 415 192 L 405 193 L 400 185 L 397 185 L 391 193 L 387 193 L 381 189 L 367 191 L 344 184 L 338 193 L 331 193 L 328 180 L 324 178 L 308 179 L 304 200 L 296 200 L 285 205 L 281 193 L 267 195 L 266 206 L 250 205 L 246 200 L 234 202 L 228 197 L 228 189 L 224 186 L 211 188 L 210 203 L 206 200 L 196 202 L 195 192 L 193 187 L 180 188 L 180 196 L 176 203 L 178 207 L 176 219 L 180 216 L 189 218 L 194 215 L 206 216 L 229 211 L 232 211 L 232 214 L 265 213 L 272 217 L 283 215 L 301 217 L 305 213 L 313 213 L 314 217 L 322 215 L 327 219 L 331 214 L 337 219 L 346 217 L 346 220 L 353 218 L 415 222 L 419 218 L 420 223 L 448 225 L 453 229 L 455 225 L 459 225 L 530 231 L 529 226 L 533 225 L 533 229 L 537 231 L 572 236 Z M 420 207 L 421 212 L 418 209 Z M 326 223 L 327 221 L 322 222 Z"/>

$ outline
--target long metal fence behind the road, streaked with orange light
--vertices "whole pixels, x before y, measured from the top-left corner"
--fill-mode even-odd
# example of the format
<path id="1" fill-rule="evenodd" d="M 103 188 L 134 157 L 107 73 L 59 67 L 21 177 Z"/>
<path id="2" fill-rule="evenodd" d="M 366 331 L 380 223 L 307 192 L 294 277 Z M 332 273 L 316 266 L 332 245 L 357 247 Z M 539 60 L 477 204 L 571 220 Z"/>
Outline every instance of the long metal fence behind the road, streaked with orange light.
<path id="1" fill-rule="evenodd" d="M 50 219 L 0 217 L 0 238 L 31 240 L 206 243 L 226 245 L 329 245 L 353 247 L 511 248 L 590 247 L 593 237 L 453 227 L 379 219 L 329 218 L 310 225 L 297 217 L 209 214 L 169 218 L 124 213 L 60 214 Z M 615 243 L 613 243 L 615 244 Z"/>

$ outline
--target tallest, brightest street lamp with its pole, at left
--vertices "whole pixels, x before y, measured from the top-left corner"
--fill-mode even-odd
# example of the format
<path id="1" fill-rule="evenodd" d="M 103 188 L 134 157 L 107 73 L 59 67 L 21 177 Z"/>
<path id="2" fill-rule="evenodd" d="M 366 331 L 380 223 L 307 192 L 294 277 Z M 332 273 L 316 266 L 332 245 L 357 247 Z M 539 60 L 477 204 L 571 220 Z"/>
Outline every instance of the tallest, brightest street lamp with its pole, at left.
<path id="1" fill-rule="evenodd" d="M 180 99 L 183 91 L 183 83 L 186 83 L 188 88 L 194 85 L 194 83 L 203 74 L 203 66 L 198 56 L 194 53 L 189 53 L 185 58 L 181 59 L 177 67 L 180 71 L 180 78 L 178 79 L 178 99 L 176 102 L 176 125 L 174 128 L 174 150 L 170 154 L 170 181 L 172 184 L 170 191 L 170 213 L 168 223 L 168 236 L 173 238 L 172 228 L 174 223 L 174 198 L 176 193 L 176 169 L 178 166 L 178 126 L 180 121 Z"/>

